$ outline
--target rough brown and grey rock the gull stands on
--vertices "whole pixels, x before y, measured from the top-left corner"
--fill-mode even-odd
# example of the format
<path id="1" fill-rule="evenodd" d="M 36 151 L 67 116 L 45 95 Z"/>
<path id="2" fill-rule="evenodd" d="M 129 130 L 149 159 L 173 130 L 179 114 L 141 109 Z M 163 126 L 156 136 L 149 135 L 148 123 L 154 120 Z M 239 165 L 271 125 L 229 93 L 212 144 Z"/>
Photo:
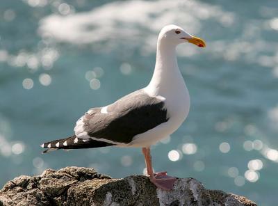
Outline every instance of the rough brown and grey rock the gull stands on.
<path id="1" fill-rule="evenodd" d="M 181 178 L 173 191 L 156 189 L 149 178 L 131 175 L 112 179 L 92 168 L 67 167 L 42 175 L 22 175 L 0 191 L 0 205 L 249 205 L 251 200 L 231 193 L 205 189 L 193 178 Z"/>

